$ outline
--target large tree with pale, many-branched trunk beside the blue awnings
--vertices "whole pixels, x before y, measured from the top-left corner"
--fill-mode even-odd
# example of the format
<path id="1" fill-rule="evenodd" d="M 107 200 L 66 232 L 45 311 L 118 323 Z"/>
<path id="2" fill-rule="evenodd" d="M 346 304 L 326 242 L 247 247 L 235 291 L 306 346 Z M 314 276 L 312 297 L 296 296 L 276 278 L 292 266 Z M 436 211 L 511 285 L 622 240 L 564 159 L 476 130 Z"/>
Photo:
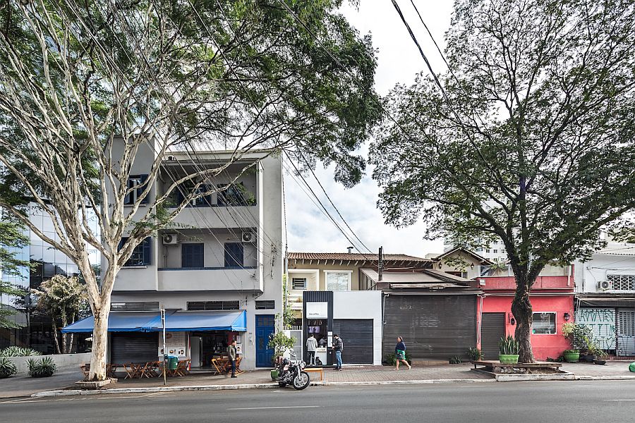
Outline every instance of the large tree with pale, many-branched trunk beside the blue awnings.
<path id="1" fill-rule="evenodd" d="M 282 0 L 3 3 L 0 206 L 78 265 L 95 317 L 90 380 L 106 377 L 119 269 L 210 194 L 206 178 L 257 147 L 298 147 L 336 162 L 345 183 L 361 178 L 363 159 L 349 152 L 380 114 L 376 63 L 370 38 L 335 12 L 340 4 L 287 0 L 294 17 Z M 162 173 L 169 152 L 202 148 L 234 154 L 186 176 Z M 140 150 L 154 162 L 131 185 Z M 171 183 L 155 198 L 159 173 Z M 28 221 L 28 202 L 52 218 L 55 237 Z M 101 283 L 86 245 L 108 264 Z"/>

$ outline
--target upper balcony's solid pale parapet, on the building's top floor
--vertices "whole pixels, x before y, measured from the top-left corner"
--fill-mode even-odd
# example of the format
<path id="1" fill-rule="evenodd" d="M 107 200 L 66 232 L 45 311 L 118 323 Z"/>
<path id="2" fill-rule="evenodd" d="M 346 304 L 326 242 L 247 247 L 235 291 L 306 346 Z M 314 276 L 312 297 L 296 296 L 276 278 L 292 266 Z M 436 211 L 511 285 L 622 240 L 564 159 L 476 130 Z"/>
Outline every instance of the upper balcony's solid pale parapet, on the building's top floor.
<path id="1" fill-rule="evenodd" d="M 250 228 L 258 226 L 258 206 L 186 207 L 174 223 L 188 228 Z"/>

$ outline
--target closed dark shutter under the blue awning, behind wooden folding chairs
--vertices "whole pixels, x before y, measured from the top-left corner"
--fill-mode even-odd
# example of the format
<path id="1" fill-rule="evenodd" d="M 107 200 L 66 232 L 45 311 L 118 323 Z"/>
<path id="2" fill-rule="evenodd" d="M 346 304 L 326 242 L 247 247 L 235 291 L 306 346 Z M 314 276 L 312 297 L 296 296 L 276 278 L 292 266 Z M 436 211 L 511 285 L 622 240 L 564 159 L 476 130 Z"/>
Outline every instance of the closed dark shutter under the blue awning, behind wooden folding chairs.
<path id="1" fill-rule="evenodd" d="M 117 332 L 111 335 L 110 362 L 143 363 L 159 357 L 158 333 Z"/>

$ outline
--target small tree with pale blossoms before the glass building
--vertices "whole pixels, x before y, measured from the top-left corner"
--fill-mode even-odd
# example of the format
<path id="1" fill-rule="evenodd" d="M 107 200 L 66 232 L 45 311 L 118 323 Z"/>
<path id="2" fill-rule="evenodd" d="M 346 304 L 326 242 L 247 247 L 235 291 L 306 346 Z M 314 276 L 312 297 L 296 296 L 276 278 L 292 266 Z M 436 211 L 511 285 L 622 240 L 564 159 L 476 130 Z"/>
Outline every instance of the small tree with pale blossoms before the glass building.
<path id="1" fill-rule="evenodd" d="M 55 275 L 42 282 L 39 289 L 32 289 L 32 293 L 36 298 L 36 309 L 51 318 L 57 353 L 71 353 L 73 334 L 69 337 L 67 333 L 62 333 L 60 343 L 57 331 L 90 314 L 85 287 L 75 276 Z"/>

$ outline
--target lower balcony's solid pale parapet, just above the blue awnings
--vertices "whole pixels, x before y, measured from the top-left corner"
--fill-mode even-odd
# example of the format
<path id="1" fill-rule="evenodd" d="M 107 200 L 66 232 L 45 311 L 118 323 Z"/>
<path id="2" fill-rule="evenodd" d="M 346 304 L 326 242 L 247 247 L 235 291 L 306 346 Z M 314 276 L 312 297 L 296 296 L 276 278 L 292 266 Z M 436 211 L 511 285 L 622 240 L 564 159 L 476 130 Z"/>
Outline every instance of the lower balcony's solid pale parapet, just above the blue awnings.
<path id="1" fill-rule="evenodd" d="M 159 291 L 262 291 L 256 267 L 159 268 Z"/>

